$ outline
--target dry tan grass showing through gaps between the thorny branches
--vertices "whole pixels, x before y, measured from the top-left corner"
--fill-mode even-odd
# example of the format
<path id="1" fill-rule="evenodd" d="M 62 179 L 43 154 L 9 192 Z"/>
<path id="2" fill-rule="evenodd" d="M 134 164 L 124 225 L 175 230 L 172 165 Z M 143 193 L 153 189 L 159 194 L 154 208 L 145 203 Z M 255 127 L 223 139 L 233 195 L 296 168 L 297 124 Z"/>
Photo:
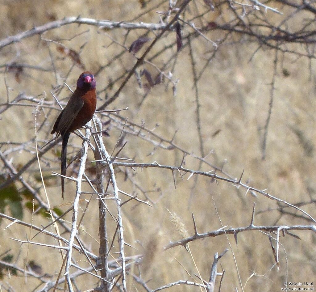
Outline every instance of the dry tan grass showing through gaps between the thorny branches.
<path id="1" fill-rule="evenodd" d="M 6 35 L 16 34 L 20 31 L 31 28 L 33 25 L 40 25 L 51 21 L 52 18 L 61 19 L 64 16 L 92 17 L 96 19 L 111 19 L 129 21 L 137 16 L 140 11 L 138 1 L 3 1 L 0 9 L 1 19 L 1 39 Z M 150 5 L 152 5 L 150 3 Z M 161 6 L 163 7 L 163 6 Z M 161 9 L 157 9 L 161 10 Z M 268 12 L 271 18 L 279 19 L 279 15 Z M 144 22 L 157 22 L 158 16 L 155 12 L 149 13 L 141 18 Z M 104 35 L 98 34 L 97 28 L 69 25 L 60 29 L 48 32 L 45 37 L 69 38 L 74 34 L 89 29 L 89 32 L 78 36 L 74 40 L 63 42 L 68 47 L 78 50 L 87 40 L 81 57 L 83 63 L 91 71 L 96 71 L 100 65 L 106 64 L 112 59 L 118 51 L 117 45 L 103 47 L 110 44 L 111 40 Z M 116 40 L 121 41 L 125 31 L 113 30 L 106 31 Z M 127 44 L 135 40 L 140 32 L 132 32 L 128 37 Z M 220 32 L 209 34 L 210 38 L 219 38 Z M 51 60 L 49 58 L 47 45 L 38 43 L 38 36 L 23 40 L 21 43 L 4 48 L 0 54 L 0 63 L 4 64 L 16 59 L 22 63 L 31 65 L 41 65 L 49 67 Z M 166 40 L 161 40 L 157 46 L 164 46 Z M 54 44 L 49 45 L 54 58 L 60 58 Z M 205 59 L 205 52 L 208 44 L 204 40 L 196 39 L 193 41 L 195 56 L 198 60 L 198 68 L 202 68 Z M 296 127 L 302 131 L 302 135 L 313 145 L 316 143 L 315 135 L 315 71 L 312 63 L 311 76 L 308 70 L 308 60 L 295 59 L 285 56 L 277 65 L 276 91 L 272 116 L 270 121 L 266 159 L 261 160 L 262 137 L 258 133 L 258 128 L 263 127 L 268 112 L 270 100 L 270 82 L 273 75 L 274 53 L 269 50 L 261 49 L 256 53 L 251 62 L 249 58 L 256 49 L 254 45 L 229 45 L 224 44 L 219 48 L 216 58 L 210 63 L 209 68 L 199 82 L 202 134 L 204 139 L 205 152 L 213 152 L 208 156 L 208 160 L 215 165 L 224 165 L 225 171 L 233 177 L 239 177 L 242 170 L 245 169 L 244 180 L 250 180 L 249 184 L 258 189 L 268 189 L 268 191 L 288 202 L 308 201 L 311 196 L 315 197 L 315 155 L 307 156 L 304 147 L 300 143 L 298 136 L 291 127 Z M 16 57 L 16 52 L 19 56 Z M 154 48 L 155 51 L 155 48 Z M 164 56 L 161 56 L 163 62 Z M 145 121 L 147 128 L 159 127 L 155 130 L 161 136 L 171 139 L 176 129 L 178 133 L 175 137 L 175 143 L 187 151 L 192 151 L 197 155 L 199 153 L 199 143 L 196 126 L 196 103 L 195 94 L 192 89 L 191 62 L 188 48 L 180 53 L 181 61 L 175 68 L 176 78 L 179 78 L 178 92 L 173 97 L 171 86 L 165 91 L 164 85 L 158 85 L 151 90 L 138 107 L 143 96 L 143 90 L 139 89 L 135 78 L 131 79 L 125 87 L 120 97 L 111 104 L 111 108 L 129 107 L 129 111 L 122 115 L 128 117 L 129 121 L 141 123 Z M 131 68 L 135 59 L 126 54 L 121 62 L 116 61 L 110 67 L 106 68 L 97 77 L 97 88 L 104 88 L 109 78 L 115 79 L 122 72 L 122 68 Z M 159 64 L 159 62 L 157 62 Z M 56 60 L 58 69 L 58 83 L 62 84 L 63 77 L 71 66 L 69 59 Z M 150 68 L 150 67 L 149 67 Z M 285 77 L 282 70 L 289 71 L 289 76 Z M 27 70 L 27 69 L 26 69 Z M 152 68 L 150 68 L 151 71 Z M 39 95 L 44 91 L 47 93 L 47 99 L 52 100 L 49 92 L 52 84 L 56 85 L 56 80 L 52 72 L 38 72 L 27 70 L 23 75 L 21 83 L 17 83 L 14 76 L 7 74 L 8 85 L 13 91 L 10 91 L 10 98 L 13 99 L 19 92 L 25 92 L 27 95 Z M 153 71 L 154 72 L 154 71 Z M 75 67 L 67 80 L 68 84 L 73 86 L 81 69 Z M 0 76 L 0 100 L 6 101 L 6 91 L 3 75 Z M 116 86 L 108 91 L 111 96 Z M 63 90 L 60 98 L 67 97 L 68 91 Z M 104 98 L 104 93 L 100 96 Z M 101 104 L 98 101 L 98 104 Z M 33 108 L 30 107 L 12 107 L 7 110 L 0 121 L 0 140 L 1 141 L 26 141 L 34 134 L 34 115 Z M 57 113 L 49 118 L 49 123 L 45 125 L 44 132 L 52 127 Z M 39 117 L 40 121 L 43 116 Z M 212 134 L 221 130 L 214 138 Z M 40 133 L 41 138 L 45 138 L 45 133 Z M 105 139 L 107 149 L 112 152 L 120 132 L 112 128 L 111 137 Z M 81 145 L 80 140 L 71 138 L 71 143 Z M 157 160 L 161 164 L 179 165 L 182 154 L 176 151 L 167 151 L 158 149 L 153 155 L 153 145 L 143 141 L 135 136 L 126 135 L 128 141 L 124 149 L 124 155 L 136 157 L 137 162 L 153 162 Z M 25 152 L 15 153 L 15 165 L 27 161 L 29 154 Z M 90 160 L 92 160 L 90 153 Z M 198 168 L 198 161 L 187 157 L 186 167 L 191 169 Z M 36 170 L 36 166 L 33 168 Z M 52 170 L 58 170 L 58 162 L 52 165 Z M 203 168 L 208 171 L 209 169 Z M 38 170 L 37 170 L 38 171 Z M 132 193 L 135 187 L 124 182 L 124 174 L 118 173 L 118 183 L 121 189 Z M 138 251 L 126 248 L 127 254 L 142 253 L 143 248 L 147 250 L 145 264 L 143 267 L 144 279 L 151 278 L 149 287 L 159 287 L 165 283 L 173 282 L 179 279 L 188 278 L 184 268 L 193 275 L 196 269 L 188 252 L 184 248 L 174 248 L 166 252 L 160 252 L 160 248 L 181 238 L 181 234 L 175 230 L 173 224 L 168 219 L 170 214 L 167 210 L 175 212 L 182 218 L 189 234 L 193 234 L 193 224 L 191 212 L 194 213 L 199 232 L 216 230 L 221 227 L 216 210 L 213 206 L 212 196 L 218 209 L 223 225 L 232 227 L 246 226 L 250 222 L 253 202 L 256 202 L 257 210 L 266 208 L 275 208 L 275 202 L 258 195 L 253 197 L 250 193 L 245 196 L 244 189 L 236 189 L 234 186 L 218 182 L 211 183 L 209 179 L 199 177 L 194 189 L 194 178 L 189 181 L 181 180 L 177 177 L 177 189 L 173 187 L 173 179 L 170 171 L 158 169 L 138 170 L 135 180 L 143 189 L 160 188 L 160 191 L 149 193 L 153 201 L 157 203 L 153 208 L 144 205 L 135 205 L 133 202 L 125 205 L 125 240 L 135 246 Z M 73 183 L 67 183 L 65 202 L 71 202 L 74 190 Z M 44 193 L 41 193 L 44 195 Z M 59 180 L 56 179 L 55 186 L 48 188 L 49 198 L 52 205 L 59 205 L 63 202 L 60 198 Z M 110 209 L 115 206 L 109 203 Z M 61 208 L 68 208 L 61 207 Z M 311 215 L 315 215 L 315 206 L 305 206 L 304 210 Z M 272 225 L 278 218 L 277 211 L 258 214 L 255 217 L 257 225 Z M 31 215 L 25 212 L 24 220 L 31 221 Z M 71 218 L 68 216 L 68 221 Z M 43 218 L 35 216 L 34 223 L 38 226 L 46 225 Z M 284 215 L 278 224 L 295 225 L 308 224 L 303 219 L 293 218 Z M 58 251 L 47 248 L 38 248 L 30 246 L 27 255 L 27 246 L 12 242 L 9 237 L 25 239 L 25 234 L 29 230 L 14 225 L 9 229 L 3 230 L 6 222 L 2 222 L 0 230 L 0 254 L 8 248 L 16 256 L 19 254 L 18 262 L 24 266 L 25 261 L 35 260 L 41 264 L 45 272 L 49 274 L 58 273 L 62 263 Z M 97 253 L 98 244 L 94 239 L 98 238 L 98 213 L 97 202 L 93 201 L 85 215 L 83 221 L 84 230 L 81 230 L 81 236 L 85 242 L 89 243 L 92 250 Z M 110 223 L 110 234 L 115 228 L 114 222 Z M 92 239 L 86 233 L 88 232 Z M 242 283 L 253 273 L 244 288 L 245 291 L 279 291 L 286 279 L 288 269 L 289 281 L 304 282 L 314 281 L 316 278 L 315 268 L 315 234 L 311 232 L 295 232 L 301 237 L 301 240 L 290 236 L 282 237 L 281 242 L 286 250 L 286 256 L 281 250 L 280 271 L 276 268 L 270 270 L 274 264 L 273 254 L 270 243 L 264 234 L 260 232 L 245 232 L 238 235 L 238 245 L 234 243 L 234 237 L 228 235 L 234 254 L 236 256 Z M 110 235 L 112 236 L 112 235 Z M 44 236 L 38 236 L 40 242 L 51 242 Z M 137 243 L 139 240 L 142 244 Z M 156 248 L 154 248 L 156 247 Z M 228 242 L 225 236 L 216 238 L 207 238 L 195 241 L 190 244 L 190 248 L 195 262 L 204 278 L 209 278 L 210 266 L 215 252 L 221 253 Z M 154 256 L 152 256 L 152 253 Z M 27 259 L 26 259 L 27 258 Z M 286 265 L 286 258 L 288 264 Z M 179 263 L 178 263 L 179 261 Z M 79 262 L 82 266 L 88 266 L 87 263 Z M 238 276 L 234 266 L 233 256 L 229 251 L 221 260 L 222 266 L 226 270 L 223 281 L 222 291 L 233 291 L 234 287 L 239 287 Z M 15 276 L 6 277 L 5 281 L 19 291 L 21 287 L 21 278 Z M 94 279 L 86 276 L 79 279 L 82 289 L 88 289 L 93 286 Z M 28 278 L 24 285 L 24 291 L 30 291 L 36 281 Z M 137 287 L 135 288 L 134 285 Z M 129 291 L 141 291 L 141 287 L 135 284 L 131 278 L 128 278 Z M 197 291 L 198 288 L 186 286 L 177 286 L 170 291 Z"/>

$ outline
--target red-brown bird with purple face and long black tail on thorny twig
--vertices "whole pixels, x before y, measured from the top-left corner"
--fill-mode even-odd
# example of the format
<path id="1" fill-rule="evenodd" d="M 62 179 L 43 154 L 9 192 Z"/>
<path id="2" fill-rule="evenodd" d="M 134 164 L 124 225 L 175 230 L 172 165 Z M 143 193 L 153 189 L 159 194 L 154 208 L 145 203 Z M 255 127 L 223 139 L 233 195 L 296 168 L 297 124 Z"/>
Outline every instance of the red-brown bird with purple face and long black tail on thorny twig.
<path id="1" fill-rule="evenodd" d="M 51 134 L 62 136 L 61 147 L 61 174 L 66 175 L 67 143 L 70 132 L 83 127 L 92 116 L 96 107 L 95 79 L 90 71 L 83 72 L 78 80 L 77 87 L 58 116 Z M 64 177 L 61 177 L 62 198 L 64 199 Z"/>

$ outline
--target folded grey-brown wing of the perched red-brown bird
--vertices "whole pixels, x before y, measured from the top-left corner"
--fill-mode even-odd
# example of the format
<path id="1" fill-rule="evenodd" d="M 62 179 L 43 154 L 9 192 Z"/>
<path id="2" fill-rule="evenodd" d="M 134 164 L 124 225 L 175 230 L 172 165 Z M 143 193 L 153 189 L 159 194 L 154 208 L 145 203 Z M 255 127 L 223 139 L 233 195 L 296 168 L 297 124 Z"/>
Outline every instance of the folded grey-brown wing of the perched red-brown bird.
<path id="1" fill-rule="evenodd" d="M 79 111 L 82 109 L 83 104 L 84 101 L 80 96 L 77 96 L 75 91 L 60 114 L 60 119 L 58 121 L 58 125 L 56 126 L 56 132 L 58 134 L 67 132 Z"/>

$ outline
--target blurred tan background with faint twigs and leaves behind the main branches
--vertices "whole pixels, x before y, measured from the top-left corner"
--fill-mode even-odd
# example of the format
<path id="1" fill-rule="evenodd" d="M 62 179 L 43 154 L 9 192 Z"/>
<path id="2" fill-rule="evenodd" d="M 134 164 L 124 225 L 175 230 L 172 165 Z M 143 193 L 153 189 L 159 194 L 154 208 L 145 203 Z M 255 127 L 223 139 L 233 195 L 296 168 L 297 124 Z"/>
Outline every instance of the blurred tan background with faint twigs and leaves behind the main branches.
<path id="1" fill-rule="evenodd" d="M 181 3 L 175 3 L 174 8 L 181 7 Z M 269 1 L 267 5 L 283 15 L 269 9 L 265 11 L 263 7 L 256 9 L 252 2 L 243 3 L 249 6 L 240 6 L 232 1 L 202 0 L 192 1 L 188 5 L 181 18 L 194 23 L 197 28 L 208 28 L 203 31 L 206 38 L 180 22 L 183 47 L 179 52 L 176 32 L 166 32 L 158 40 L 145 58 L 148 62 L 137 68 L 140 81 L 137 82 L 137 75 L 133 75 L 119 97 L 106 108 L 129 109 L 120 111 L 119 115 L 100 115 L 109 134 L 109 137 L 104 137 L 106 149 L 109 153 L 116 152 L 127 141 L 120 155 L 139 163 L 157 161 L 159 164 L 179 166 L 186 152 L 184 166 L 189 169 L 214 171 L 210 166 L 213 165 L 219 169 L 216 174 L 237 179 L 244 170 L 242 182 L 260 190 L 267 189 L 269 194 L 298 204 L 315 217 L 316 78 L 313 44 L 309 46 L 275 38 L 269 47 L 264 43 L 266 39 L 260 41 L 251 34 L 241 34 L 231 29 L 247 31 L 241 25 L 244 21 L 251 24 L 248 31 L 268 36 L 279 35 L 281 38 L 285 35 L 284 31 L 293 34 L 303 34 L 306 30 L 313 32 L 314 14 L 310 10 L 298 10 L 278 1 Z M 161 19 L 171 20 L 177 11 L 171 11 L 171 16 L 167 17 L 163 12 L 170 11 L 169 1 L 158 0 L 120 3 L 101 0 L 45 0 L 40 3 L 35 0 L 3 0 L 0 5 L 1 40 L 68 16 L 159 23 Z M 311 1 L 310 6 L 316 9 L 314 5 Z M 236 18 L 234 11 L 242 17 Z M 220 28 L 224 25 L 231 28 Z M 126 72 L 135 64 L 135 56 L 140 57 L 158 33 L 69 24 L 3 47 L 0 50 L 0 151 L 15 169 L 21 169 L 35 155 L 36 103 L 24 100 L 19 103 L 28 103 L 29 106 L 10 105 L 4 110 L 8 96 L 9 101 L 20 93 L 38 100 L 45 97 L 42 103 L 50 102 L 47 105 L 53 106 L 54 109 L 41 109 L 37 115 L 37 139 L 39 146 L 43 146 L 45 141 L 52 138 L 49 133 L 59 113 L 51 92 L 65 104 L 70 91 L 63 86 L 64 82 L 74 89 L 80 73 L 89 70 L 95 73 L 97 107 L 101 106 L 106 98 L 112 97 L 118 90 Z M 188 34 L 191 35 L 186 37 Z M 134 49 L 128 52 L 131 44 L 143 36 L 150 40 L 139 51 Z M 210 40 L 216 42 L 218 47 Z M 306 52 L 309 52 L 308 55 Z M 147 76 L 155 78 L 159 75 L 157 68 L 166 76 L 151 86 Z M 144 69 L 146 74 L 142 75 L 141 70 Z M 157 136 L 140 131 L 140 127 Z M 171 140 L 172 145 L 166 142 Z M 70 160 L 81 148 L 81 143 L 81 139 L 71 135 L 68 148 Z M 70 208 L 76 185 L 74 182 L 66 183 L 65 200 L 62 201 L 60 179 L 51 175 L 51 171 L 59 172 L 59 157 L 60 145 L 57 145 L 42 158 L 41 167 L 51 206 L 62 212 Z M 201 163 L 195 157 L 204 158 L 210 165 Z M 88 161 L 92 160 L 94 157 L 90 150 Z M 0 166 L 2 183 L 7 179 L 8 171 L 3 161 Z M 94 164 L 87 167 L 89 177 L 94 178 Z M 78 161 L 75 161 L 67 174 L 76 177 L 77 168 Z M 176 173 L 175 189 L 172 173 L 167 170 L 117 168 L 116 176 L 120 189 L 137 194 L 140 199 L 153 205 L 149 207 L 131 201 L 123 208 L 125 240 L 134 247 L 126 247 L 126 255 L 144 255 L 141 275 L 144 281 L 150 280 L 147 284 L 151 289 L 178 280 L 192 281 L 190 275 L 199 282 L 194 276 L 197 270 L 193 259 L 201 276 L 208 280 L 214 254 L 229 248 L 228 241 L 234 251 L 244 291 L 278 291 L 286 280 L 311 282 L 315 279 L 316 237 L 306 230 L 292 232 L 299 238 L 288 234 L 281 237 L 279 271 L 269 238 L 259 231 L 238 234 L 238 245 L 233 235 L 193 241 L 190 243 L 192 256 L 179 246 L 162 251 L 169 242 L 194 234 L 191 213 L 195 216 L 199 233 L 217 230 L 222 225 L 228 226 L 226 228 L 249 225 L 254 202 L 254 224 L 257 226 L 313 224 L 297 210 L 286 208 L 282 203 L 258 193 L 247 192 L 247 189 L 232 183 L 207 177 L 194 175 L 187 180 L 188 174 L 182 179 Z M 23 177 L 46 201 L 36 161 L 23 173 Z M 45 210 L 32 216 L 32 197 L 21 187 L 20 182 L 15 182 L 0 190 L 0 211 L 33 222 L 36 226 L 47 225 L 50 221 Z M 84 184 L 83 188 L 91 191 L 88 184 Z M 81 198 L 89 199 L 90 195 L 83 194 Z M 82 202 L 84 208 L 85 202 Z M 109 202 L 108 208 L 115 213 L 114 202 Z M 99 249 L 98 219 L 98 202 L 97 198 L 93 198 L 82 221 L 80 236 L 96 254 Z M 64 220 L 66 224 L 71 222 L 71 214 L 66 215 Z M 30 269 L 33 261 L 41 268 L 39 273 L 56 279 L 62 265 L 58 251 L 34 245 L 27 247 L 13 241 L 10 238 L 29 238 L 30 231 L 17 224 L 5 228 L 9 223 L 4 219 L 0 221 L 2 260 L 9 260 L 21 268 L 27 265 Z M 115 228 L 116 222 L 109 219 L 110 238 Z M 48 230 L 54 232 L 53 227 Z M 43 234 L 35 239 L 54 244 L 53 239 Z M 115 246 L 117 249 L 117 242 Z M 115 251 L 114 248 L 113 257 L 116 257 Z M 88 266 L 85 258 L 76 256 L 80 265 Z M 222 291 L 235 291 L 235 287 L 241 291 L 231 250 L 220 263 L 219 272 L 222 268 L 225 270 Z M 138 274 L 138 268 L 135 267 L 133 272 Z M 130 272 L 127 278 L 128 291 L 143 291 L 141 285 L 132 279 L 132 274 Z M 6 287 L 12 286 L 16 291 L 21 287 L 24 291 L 32 291 L 40 283 L 28 277 L 22 286 L 21 273 L 14 275 L 12 270 L 3 266 L 0 266 L 0 276 L 0 281 Z M 216 280 L 216 291 L 219 280 L 220 277 Z M 95 278 L 87 275 L 77 279 L 80 291 L 91 289 L 95 283 Z M 200 288 L 182 285 L 169 290 L 197 291 Z"/>

